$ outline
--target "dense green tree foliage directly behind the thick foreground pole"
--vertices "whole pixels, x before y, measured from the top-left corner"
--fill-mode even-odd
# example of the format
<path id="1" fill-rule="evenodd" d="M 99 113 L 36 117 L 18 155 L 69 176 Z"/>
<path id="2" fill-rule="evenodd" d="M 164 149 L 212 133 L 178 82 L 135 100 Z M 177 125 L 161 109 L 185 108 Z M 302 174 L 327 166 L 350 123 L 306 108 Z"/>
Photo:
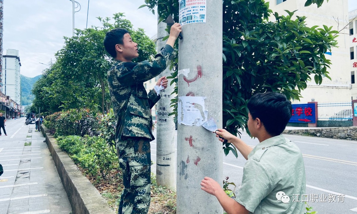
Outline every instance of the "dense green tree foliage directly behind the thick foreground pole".
<path id="1" fill-rule="evenodd" d="M 178 20 L 178 1 L 145 0 L 157 6 L 161 20 Z M 323 0 L 307 0 L 321 6 Z M 247 101 L 254 93 L 280 91 L 299 100 L 307 81 L 330 79 L 325 52 L 337 45 L 332 27 L 307 27 L 306 17 L 272 14 L 263 0 L 223 0 L 223 126 L 231 133 L 245 128 Z M 295 12 L 295 11 L 294 11 Z M 276 21 L 268 21 L 274 15 Z M 173 73 L 172 76 L 175 76 Z M 174 82 L 174 81 L 173 81 Z"/>

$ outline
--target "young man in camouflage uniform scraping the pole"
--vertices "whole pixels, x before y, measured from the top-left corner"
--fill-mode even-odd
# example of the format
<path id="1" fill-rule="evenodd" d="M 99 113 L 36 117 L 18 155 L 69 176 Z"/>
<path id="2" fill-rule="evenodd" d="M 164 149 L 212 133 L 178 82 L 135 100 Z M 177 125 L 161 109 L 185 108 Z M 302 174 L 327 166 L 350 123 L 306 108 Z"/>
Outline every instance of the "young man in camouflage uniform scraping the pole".
<path id="1" fill-rule="evenodd" d="M 173 58 L 174 44 L 181 25 L 171 26 L 166 46 L 152 61 L 132 63 L 139 56 L 137 43 L 127 30 L 116 28 L 104 39 L 107 52 L 115 58 L 107 77 L 114 114 L 117 118 L 115 141 L 119 164 L 123 170 L 124 190 L 119 204 L 119 214 L 147 213 L 150 205 L 150 141 L 151 108 L 159 101 L 159 92 L 167 87 L 168 80 L 161 77 L 154 89 L 146 93 L 143 82 L 159 75 Z"/>

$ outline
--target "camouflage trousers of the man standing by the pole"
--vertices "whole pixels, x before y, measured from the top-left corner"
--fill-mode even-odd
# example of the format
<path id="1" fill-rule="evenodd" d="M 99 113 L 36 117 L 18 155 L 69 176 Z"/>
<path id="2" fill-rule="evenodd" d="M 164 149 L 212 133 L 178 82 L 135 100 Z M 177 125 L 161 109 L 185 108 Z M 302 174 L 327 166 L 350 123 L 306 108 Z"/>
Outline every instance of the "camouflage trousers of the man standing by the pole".
<path id="1" fill-rule="evenodd" d="M 117 155 L 123 172 L 124 190 L 119 214 L 147 214 L 150 206 L 150 141 L 129 138 L 117 141 Z"/>

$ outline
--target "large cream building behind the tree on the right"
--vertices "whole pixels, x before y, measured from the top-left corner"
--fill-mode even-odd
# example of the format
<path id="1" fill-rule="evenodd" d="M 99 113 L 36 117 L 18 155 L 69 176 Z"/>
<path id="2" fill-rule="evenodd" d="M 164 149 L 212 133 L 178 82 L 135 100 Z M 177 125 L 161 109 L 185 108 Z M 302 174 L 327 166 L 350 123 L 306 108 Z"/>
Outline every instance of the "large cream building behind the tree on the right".
<path id="1" fill-rule="evenodd" d="M 325 77 L 321 85 L 316 85 L 312 76 L 312 80 L 307 83 L 307 88 L 301 92 L 303 97 L 301 102 L 309 102 L 312 98 L 315 98 L 318 102 L 351 101 L 351 97 L 355 99 L 356 95 L 352 95 L 352 87 L 356 89 L 356 84 L 355 80 L 351 81 L 353 76 L 351 68 L 354 61 L 350 59 L 348 50 L 350 47 L 354 49 L 353 54 L 356 59 L 355 46 L 357 43 L 353 43 L 355 46 L 352 46 L 353 36 L 348 35 L 348 28 L 344 28 L 348 25 L 348 2 L 325 1 L 319 8 L 316 4 L 305 7 L 306 1 L 301 0 L 267 0 L 267 2 L 269 2 L 269 8 L 279 15 L 286 16 L 287 12 L 284 10 L 297 10 L 295 16 L 306 16 L 308 27 L 326 25 L 328 27 L 333 26 L 332 30 L 341 31 L 336 38 L 338 47 L 332 48 L 331 52 L 326 53 L 326 58 L 331 60 L 332 63 L 331 69 L 327 68 L 332 81 Z M 273 19 L 271 21 L 275 21 L 274 16 L 270 18 Z M 355 23 L 353 26 L 355 26 Z M 357 68 L 354 68 L 354 70 L 357 70 Z M 353 78 L 356 77 L 353 76 Z"/>

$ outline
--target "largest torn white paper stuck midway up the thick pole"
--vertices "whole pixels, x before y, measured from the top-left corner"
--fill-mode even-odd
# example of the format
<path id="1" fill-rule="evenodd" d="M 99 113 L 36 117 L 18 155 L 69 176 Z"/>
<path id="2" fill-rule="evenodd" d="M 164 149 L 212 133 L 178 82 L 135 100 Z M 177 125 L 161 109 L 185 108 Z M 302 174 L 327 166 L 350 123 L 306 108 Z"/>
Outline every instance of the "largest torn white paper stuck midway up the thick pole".
<path id="1" fill-rule="evenodd" d="M 201 126 L 207 121 L 206 97 L 178 97 L 177 121 L 183 125 Z"/>

